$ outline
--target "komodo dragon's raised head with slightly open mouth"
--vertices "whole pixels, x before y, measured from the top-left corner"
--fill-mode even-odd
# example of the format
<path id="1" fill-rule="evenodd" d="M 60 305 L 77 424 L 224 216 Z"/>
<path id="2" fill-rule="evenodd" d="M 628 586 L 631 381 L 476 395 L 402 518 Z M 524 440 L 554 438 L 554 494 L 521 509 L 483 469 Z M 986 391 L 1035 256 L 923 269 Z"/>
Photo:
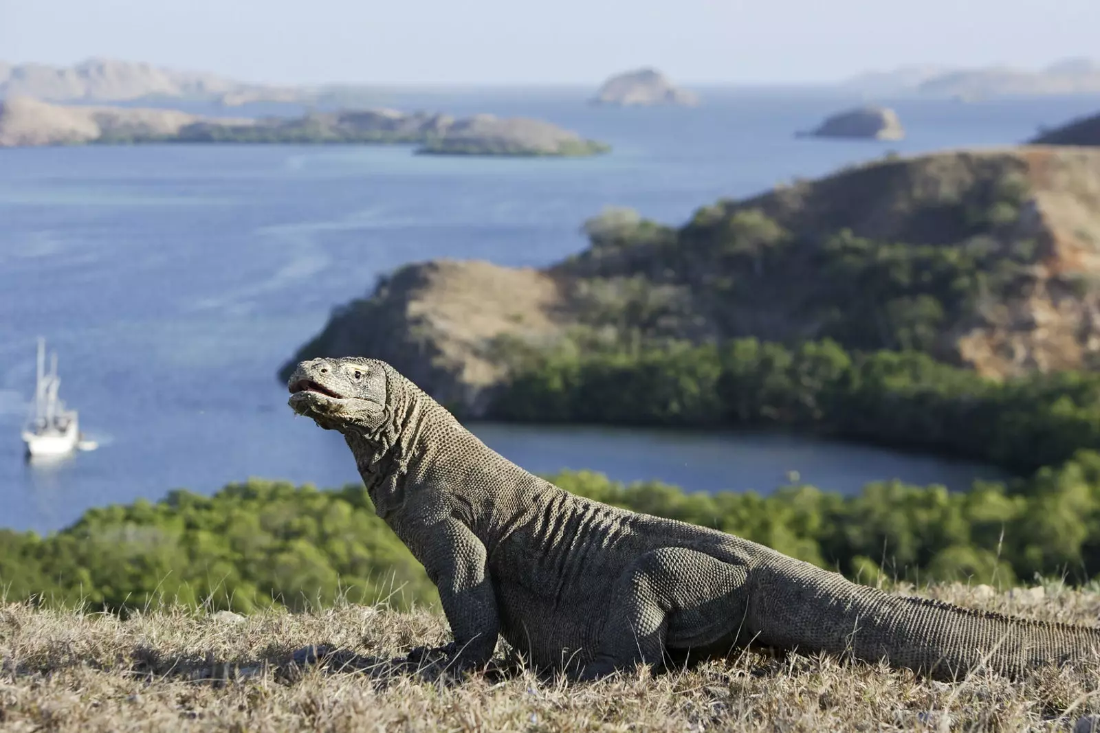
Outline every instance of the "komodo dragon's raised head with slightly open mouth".
<path id="1" fill-rule="evenodd" d="M 370 434 L 386 420 L 387 365 L 348 356 L 300 362 L 290 375 L 289 404 L 324 430 Z"/>

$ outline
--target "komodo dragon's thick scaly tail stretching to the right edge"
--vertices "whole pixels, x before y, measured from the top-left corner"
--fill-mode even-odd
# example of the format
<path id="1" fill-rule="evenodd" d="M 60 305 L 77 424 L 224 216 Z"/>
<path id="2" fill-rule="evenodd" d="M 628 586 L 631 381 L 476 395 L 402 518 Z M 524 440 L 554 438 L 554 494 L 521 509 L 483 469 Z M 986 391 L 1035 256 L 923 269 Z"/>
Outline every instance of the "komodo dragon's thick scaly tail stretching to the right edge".
<path id="1" fill-rule="evenodd" d="M 1018 676 L 1046 664 L 1100 664 L 1100 629 L 892 596 L 796 560 L 782 565 L 766 570 L 754 592 L 749 625 L 763 643 L 884 659 L 941 679 L 982 668 Z"/>

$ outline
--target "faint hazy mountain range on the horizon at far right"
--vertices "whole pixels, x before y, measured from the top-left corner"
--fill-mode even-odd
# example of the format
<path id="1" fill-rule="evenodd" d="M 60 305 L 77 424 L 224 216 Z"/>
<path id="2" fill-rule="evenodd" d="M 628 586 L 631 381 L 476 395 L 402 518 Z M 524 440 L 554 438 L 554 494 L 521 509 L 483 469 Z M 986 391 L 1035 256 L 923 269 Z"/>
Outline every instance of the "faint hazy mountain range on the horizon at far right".
<path id="1" fill-rule="evenodd" d="M 867 95 L 921 95 L 981 99 L 1010 95 L 1100 93 L 1100 63 L 1066 58 L 1046 68 L 1008 66 L 959 69 L 945 66 L 903 66 L 847 79 L 843 88 Z"/>

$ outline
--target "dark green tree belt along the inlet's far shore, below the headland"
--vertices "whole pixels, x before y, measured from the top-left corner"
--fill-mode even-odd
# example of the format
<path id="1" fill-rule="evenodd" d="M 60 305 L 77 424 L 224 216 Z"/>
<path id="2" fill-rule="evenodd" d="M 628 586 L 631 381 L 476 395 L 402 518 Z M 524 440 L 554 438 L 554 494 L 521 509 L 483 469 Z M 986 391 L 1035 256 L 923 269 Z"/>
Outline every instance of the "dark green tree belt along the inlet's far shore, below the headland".
<path id="1" fill-rule="evenodd" d="M 551 351 L 498 343 L 515 376 L 491 408 L 530 422 L 779 429 L 982 460 L 1016 474 L 1100 451 L 1100 375 L 997 382 L 917 352 L 733 340 Z"/>

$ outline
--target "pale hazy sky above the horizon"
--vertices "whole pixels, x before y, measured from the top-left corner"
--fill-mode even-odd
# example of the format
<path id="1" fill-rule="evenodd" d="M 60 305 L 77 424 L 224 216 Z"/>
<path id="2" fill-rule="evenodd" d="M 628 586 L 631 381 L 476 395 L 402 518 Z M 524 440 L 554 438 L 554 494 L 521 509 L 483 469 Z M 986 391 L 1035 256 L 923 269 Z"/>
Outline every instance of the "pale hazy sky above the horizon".
<path id="1" fill-rule="evenodd" d="M 0 59 L 111 56 L 254 81 L 834 80 L 1100 56 L 1100 0 L 0 0 Z"/>

